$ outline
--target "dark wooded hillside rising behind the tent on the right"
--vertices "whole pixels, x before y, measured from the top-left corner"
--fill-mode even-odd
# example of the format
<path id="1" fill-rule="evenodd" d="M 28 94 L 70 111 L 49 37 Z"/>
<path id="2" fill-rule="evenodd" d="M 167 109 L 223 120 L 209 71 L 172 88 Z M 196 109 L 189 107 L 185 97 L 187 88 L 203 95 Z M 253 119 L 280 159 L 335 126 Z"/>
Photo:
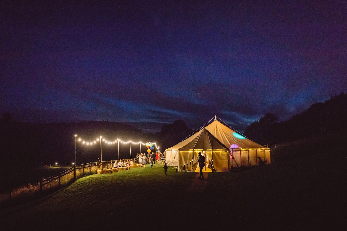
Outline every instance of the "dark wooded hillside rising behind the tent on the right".
<path id="1" fill-rule="evenodd" d="M 324 103 L 311 105 L 305 112 L 288 121 L 265 113 L 259 121 L 250 124 L 244 134 L 253 141 L 267 143 L 309 138 L 331 133 L 345 133 L 347 129 L 347 94 L 331 96 Z"/>

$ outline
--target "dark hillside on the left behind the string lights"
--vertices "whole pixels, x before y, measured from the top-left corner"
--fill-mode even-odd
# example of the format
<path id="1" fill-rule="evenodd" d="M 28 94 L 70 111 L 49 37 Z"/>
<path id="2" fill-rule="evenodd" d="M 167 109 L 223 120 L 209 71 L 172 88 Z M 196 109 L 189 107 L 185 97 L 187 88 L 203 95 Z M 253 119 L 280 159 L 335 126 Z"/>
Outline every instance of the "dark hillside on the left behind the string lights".
<path id="1" fill-rule="evenodd" d="M 36 183 L 39 167 L 70 165 L 75 160 L 75 137 L 78 134 L 86 141 L 93 141 L 100 135 L 107 140 L 121 139 L 134 142 L 152 141 L 153 134 L 142 133 L 136 127 L 108 121 L 79 123 L 31 124 L 0 122 L 0 183 L 12 186 Z M 120 145 L 120 158 L 129 158 L 129 145 Z M 145 147 L 143 147 L 145 148 Z M 139 152 L 139 146 L 132 146 L 132 153 Z M 118 146 L 103 145 L 103 160 L 118 159 Z M 76 162 L 94 162 L 100 158 L 100 144 L 86 146 L 77 142 Z M 14 171 L 13 169 L 16 169 Z M 11 187 L 12 187 L 11 186 Z"/>

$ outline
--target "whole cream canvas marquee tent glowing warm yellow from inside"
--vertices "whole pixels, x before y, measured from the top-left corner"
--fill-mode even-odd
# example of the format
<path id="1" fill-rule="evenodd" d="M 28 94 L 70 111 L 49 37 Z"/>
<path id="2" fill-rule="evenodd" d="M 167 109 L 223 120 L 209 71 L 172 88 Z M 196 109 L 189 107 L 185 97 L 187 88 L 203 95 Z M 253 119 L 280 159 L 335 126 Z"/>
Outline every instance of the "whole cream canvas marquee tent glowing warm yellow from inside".
<path id="1" fill-rule="evenodd" d="M 181 170 L 183 165 L 188 162 L 190 166 L 192 161 L 192 170 L 195 171 L 198 153 L 201 151 L 206 153 L 207 164 L 213 158 L 216 171 L 229 171 L 233 166 L 257 166 L 259 157 L 267 165 L 271 163 L 270 149 L 247 139 L 227 124 L 222 124 L 217 116 L 212 123 L 209 122 L 193 135 L 166 149 L 168 166 L 178 166 Z"/>

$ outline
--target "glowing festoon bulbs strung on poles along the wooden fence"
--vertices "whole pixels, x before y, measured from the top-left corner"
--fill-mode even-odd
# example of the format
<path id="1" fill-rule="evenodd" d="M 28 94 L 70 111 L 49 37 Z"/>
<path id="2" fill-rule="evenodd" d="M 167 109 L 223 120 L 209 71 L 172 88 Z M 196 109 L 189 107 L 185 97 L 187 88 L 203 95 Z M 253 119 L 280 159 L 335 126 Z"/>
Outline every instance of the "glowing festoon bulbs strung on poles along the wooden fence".
<path id="1" fill-rule="evenodd" d="M 141 141 L 138 141 L 138 142 L 133 142 L 131 140 L 129 141 L 122 141 L 120 139 L 117 139 L 117 140 L 106 140 L 104 137 L 100 136 L 100 138 L 96 138 L 95 140 L 93 141 L 85 141 L 85 140 L 82 140 L 81 137 L 78 137 L 77 135 L 75 135 L 75 156 L 76 156 L 76 139 L 78 142 L 81 142 L 82 144 L 85 144 L 85 145 L 94 145 L 96 144 L 96 142 L 99 143 L 100 141 L 100 155 L 101 155 L 101 161 L 102 161 L 102 146 L 101 146 L 101 143 L 104 142 L 105 144 L 109 144 L 109 145 L 113 145 L 113 144 L 116 144 L 118 143 L 118 159 L 119 159 L 119 143 L 122 143 L 122 144 L 129 144 L 130 145 L 130 159 L 131 159 L 131 144 L 140 144 L 140 151 L 141 151 L 141 144 L 142 145 L 145 145 L 147 146 L 148 143 L 142 143 Z M 102 141 L 102 142 L 101 142 Z M 149 142 L 149 143 L 152 143 L 152 142 Z M 154 151 L 156 151 L 156 149 L 158 149 L 159 151 L 159 146 L 156 146 L 156 143 L 152 143 L 152 145 L 155 145 L 155 149 Z M 75 162 L 76 162 L 76 157 L 75 157 Z"/>

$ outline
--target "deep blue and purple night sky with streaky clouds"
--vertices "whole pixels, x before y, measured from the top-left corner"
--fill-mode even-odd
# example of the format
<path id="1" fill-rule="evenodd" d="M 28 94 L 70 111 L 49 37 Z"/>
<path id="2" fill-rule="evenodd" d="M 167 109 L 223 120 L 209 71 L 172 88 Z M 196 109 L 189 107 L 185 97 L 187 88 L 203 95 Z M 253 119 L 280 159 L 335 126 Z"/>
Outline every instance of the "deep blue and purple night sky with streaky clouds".
<path id="1" fill-rule="evenodd" d="M 276 3 L 274 3 L 276 2 Z M 288 3 L 289 2 L 289 3 Z M 0 113 L 243 131 L 347 90 L 346 1 L 8 1 Z"/>

